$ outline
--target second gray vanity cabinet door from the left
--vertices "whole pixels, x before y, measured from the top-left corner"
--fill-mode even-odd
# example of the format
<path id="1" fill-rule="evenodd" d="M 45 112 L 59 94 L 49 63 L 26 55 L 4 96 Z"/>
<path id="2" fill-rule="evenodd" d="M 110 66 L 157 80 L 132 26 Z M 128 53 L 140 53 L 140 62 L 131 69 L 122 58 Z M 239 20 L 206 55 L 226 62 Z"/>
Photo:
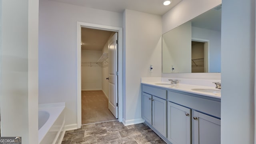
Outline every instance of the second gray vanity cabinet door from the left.
<path id="1" fill-rule="evenodd" d="M 156 96 L 152 98 L 152 126 L 164 137 L 167 137 L 166 100 Z"/>

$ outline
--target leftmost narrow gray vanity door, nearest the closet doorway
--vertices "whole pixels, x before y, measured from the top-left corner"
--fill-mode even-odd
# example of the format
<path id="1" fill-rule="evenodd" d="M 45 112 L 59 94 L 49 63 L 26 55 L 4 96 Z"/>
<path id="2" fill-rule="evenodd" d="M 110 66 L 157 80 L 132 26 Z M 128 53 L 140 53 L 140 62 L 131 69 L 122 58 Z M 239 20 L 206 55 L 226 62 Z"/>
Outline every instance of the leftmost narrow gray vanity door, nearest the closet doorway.
<path id="1" fill-rule="evenodd" d="M 142 118 L 149 124 L 152 124 L 152 96 L 142 93 Z"/>

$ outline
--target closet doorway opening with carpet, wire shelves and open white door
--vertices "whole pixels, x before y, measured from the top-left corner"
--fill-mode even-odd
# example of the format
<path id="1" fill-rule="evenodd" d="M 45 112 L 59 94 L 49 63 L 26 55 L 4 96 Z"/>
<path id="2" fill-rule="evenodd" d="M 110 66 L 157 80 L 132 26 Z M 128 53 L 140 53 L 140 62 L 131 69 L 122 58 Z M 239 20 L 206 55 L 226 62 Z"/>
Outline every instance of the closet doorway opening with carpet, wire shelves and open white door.
<path id="1" fill-rule="evenodd" d="M 82 124 L 116 120 L 117 100 L 114 68 L 117 67 L 113 38 L 117 32 L 81 28 L 81 115 Z M 116 61 L 116 63 L 115 63 Z M 114 83 L 114 85 L 112 84 Z M 117 83 L 117 82 L 116 82 Z M 117 109 L 117 108 L 116 108 Z"/>

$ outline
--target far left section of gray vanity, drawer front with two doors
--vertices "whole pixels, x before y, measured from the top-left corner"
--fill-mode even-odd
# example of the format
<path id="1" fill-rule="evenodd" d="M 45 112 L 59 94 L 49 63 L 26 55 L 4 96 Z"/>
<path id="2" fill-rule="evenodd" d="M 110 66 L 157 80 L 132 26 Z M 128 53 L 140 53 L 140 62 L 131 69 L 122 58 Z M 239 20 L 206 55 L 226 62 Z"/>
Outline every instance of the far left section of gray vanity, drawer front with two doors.
<path id="1" fill-rule="evenodd" d="M 142 85 L 142 118 L 164 137 L 167 137 L 166 95 L 166 90 Z"/>

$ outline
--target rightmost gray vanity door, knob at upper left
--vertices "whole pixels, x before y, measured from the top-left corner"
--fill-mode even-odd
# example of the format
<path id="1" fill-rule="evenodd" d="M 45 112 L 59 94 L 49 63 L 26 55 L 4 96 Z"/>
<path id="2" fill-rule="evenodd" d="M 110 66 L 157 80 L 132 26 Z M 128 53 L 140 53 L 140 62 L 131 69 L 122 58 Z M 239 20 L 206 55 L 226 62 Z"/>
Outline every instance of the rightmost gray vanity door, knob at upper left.
<path id="1" fill-rule="evenodd" d="M 192 144 L 220 144 L 220 119 L 194 111 Z"/>

